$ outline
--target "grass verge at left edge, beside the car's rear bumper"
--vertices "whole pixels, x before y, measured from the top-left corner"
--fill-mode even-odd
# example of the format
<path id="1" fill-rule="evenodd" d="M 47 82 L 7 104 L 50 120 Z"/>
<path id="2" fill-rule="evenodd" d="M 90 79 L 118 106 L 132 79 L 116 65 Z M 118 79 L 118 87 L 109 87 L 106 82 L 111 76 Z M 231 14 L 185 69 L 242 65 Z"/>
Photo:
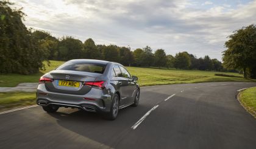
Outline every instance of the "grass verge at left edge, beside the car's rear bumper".
<path id="1" fill-rule="evenodd" d="M 0 93 L 0 111 L 35 104 L 34 92 Z"/>

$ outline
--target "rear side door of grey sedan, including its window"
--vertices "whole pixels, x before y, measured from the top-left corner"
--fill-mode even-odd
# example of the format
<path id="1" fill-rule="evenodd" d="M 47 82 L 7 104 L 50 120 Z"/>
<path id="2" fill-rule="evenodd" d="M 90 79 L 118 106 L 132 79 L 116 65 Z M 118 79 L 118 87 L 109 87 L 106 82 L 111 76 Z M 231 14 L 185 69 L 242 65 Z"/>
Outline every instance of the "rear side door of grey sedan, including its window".
<path id="1" fill-rule="evenodd" d="M 129 93 L 128 93 L 128 89 L 129 89 L 129 84 L 127 82 L 127 78 L 123 77 L 123 73 L 120 70 L 118 65 L 113 65 L 113 71 L 115 71 L 116 76 L 113 77 L 113 79 L 115 79 L 116 81 L 118 81 L 117 88 L 119 88 L 119 92 L 120 92 L 120 107 L 122 107 L 123 105 L 127 105 L 129 104 Z"/>

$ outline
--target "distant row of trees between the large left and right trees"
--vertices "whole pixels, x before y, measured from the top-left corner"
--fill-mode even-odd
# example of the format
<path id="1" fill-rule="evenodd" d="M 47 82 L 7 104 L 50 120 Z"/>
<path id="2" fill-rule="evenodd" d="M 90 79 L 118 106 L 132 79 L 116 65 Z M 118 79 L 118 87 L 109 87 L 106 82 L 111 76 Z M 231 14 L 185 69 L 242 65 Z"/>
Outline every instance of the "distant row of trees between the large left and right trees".
<path id="1" fill-rule="evenodd" d="M 38 41 L 44 51 L 45 59 L 68 61 L 69 59 L 102 59 L 105 61 L 119 62 L 126 66 L 137 67 L 167 67 L 179 69 L 215 70 L 221 71 L 223 67 L 217 59 L 209 56 L 196 58 L 187 51 L 177 53 L 175 56 L 166 55 L 165 50 L 146 46 L 130 50 L 130 47 L 118 45 L 96 45 L 93 39 L 85 42 L 67 36 L 60 39 L 54 38 L 46 31 L 34 31 L 32 37 Z"/>

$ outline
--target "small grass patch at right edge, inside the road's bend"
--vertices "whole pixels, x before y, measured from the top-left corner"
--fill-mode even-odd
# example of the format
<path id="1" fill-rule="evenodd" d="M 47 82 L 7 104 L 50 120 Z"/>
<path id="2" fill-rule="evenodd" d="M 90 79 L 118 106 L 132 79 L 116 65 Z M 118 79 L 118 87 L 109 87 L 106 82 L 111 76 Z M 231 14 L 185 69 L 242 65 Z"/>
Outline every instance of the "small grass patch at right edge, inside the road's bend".
<path id="1" fill-rule="evenodd" d="M 256 87 L 241 91 L 238 97 L 243 107 L 256 118 Z"/>

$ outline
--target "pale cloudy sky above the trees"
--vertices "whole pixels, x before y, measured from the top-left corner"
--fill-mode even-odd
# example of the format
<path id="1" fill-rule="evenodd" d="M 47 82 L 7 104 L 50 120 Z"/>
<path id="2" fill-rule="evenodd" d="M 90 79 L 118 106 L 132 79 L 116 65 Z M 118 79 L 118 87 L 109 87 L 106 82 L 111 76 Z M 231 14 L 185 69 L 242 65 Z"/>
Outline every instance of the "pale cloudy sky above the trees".
<path id="1" fill-rule="evenodd" d="M 23 7 L 27 27 L 84 42 L 149 45 L 166 54 L 188 51 L 221 61 L 233 31 L 256 24 L 256 1 L 249 0 L 11 0 Z"/>

